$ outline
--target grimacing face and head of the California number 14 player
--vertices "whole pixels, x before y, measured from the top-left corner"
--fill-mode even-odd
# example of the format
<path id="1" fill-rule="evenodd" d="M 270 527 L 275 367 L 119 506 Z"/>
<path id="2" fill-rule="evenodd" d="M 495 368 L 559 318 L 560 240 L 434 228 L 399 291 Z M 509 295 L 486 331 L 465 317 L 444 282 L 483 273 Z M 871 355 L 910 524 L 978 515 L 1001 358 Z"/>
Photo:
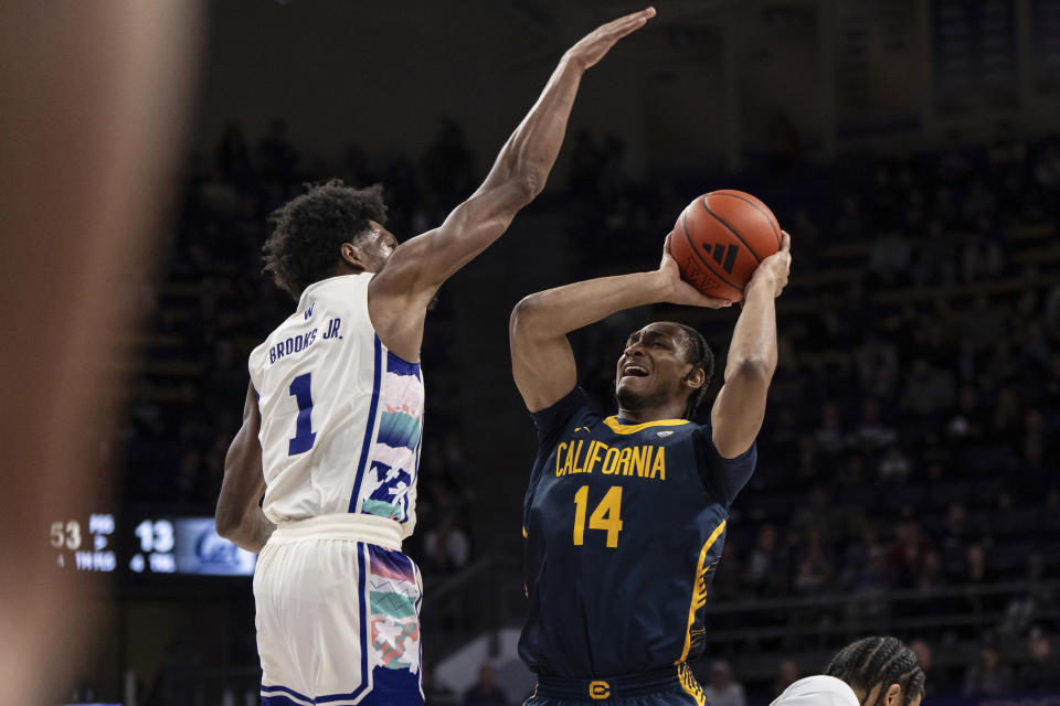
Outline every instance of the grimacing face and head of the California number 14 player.
<path id="1" fill-rule="evenodd" d="M 692 370 L 685 336 L 669 323 L 649 323 L 626 339 L 615 371 L 615 396 L 627 408 L 666 403 L 688 394 L 682 381 Z"/>

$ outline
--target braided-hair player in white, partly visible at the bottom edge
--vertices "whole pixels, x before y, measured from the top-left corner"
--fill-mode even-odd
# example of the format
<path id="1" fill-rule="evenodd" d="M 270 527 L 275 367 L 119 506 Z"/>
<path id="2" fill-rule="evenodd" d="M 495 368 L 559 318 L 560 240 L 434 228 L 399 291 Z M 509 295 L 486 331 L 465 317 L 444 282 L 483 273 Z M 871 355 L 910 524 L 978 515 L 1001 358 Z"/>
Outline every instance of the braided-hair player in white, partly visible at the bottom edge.
<path id="1" fill-rule="evenodd" d="M 801 678 L 771 706 L 920 706 L 924 671 L 897 638 L 865 638 L 836 653 L 824 674 Z"/>

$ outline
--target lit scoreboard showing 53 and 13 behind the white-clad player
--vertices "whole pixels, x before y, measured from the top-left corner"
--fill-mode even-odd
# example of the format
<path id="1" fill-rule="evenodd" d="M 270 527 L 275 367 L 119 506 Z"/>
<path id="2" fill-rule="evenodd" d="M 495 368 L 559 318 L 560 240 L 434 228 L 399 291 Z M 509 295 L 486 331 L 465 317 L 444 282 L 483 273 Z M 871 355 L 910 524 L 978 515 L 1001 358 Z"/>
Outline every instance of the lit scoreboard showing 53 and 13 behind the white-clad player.
<path id="1" fill-rule="evenodd" d="M 49 544 L 56 566 L 72 571 L 252 576 L 257 563 L 218 535 L 213 517 L 92 513 L 52 522 Z"/>

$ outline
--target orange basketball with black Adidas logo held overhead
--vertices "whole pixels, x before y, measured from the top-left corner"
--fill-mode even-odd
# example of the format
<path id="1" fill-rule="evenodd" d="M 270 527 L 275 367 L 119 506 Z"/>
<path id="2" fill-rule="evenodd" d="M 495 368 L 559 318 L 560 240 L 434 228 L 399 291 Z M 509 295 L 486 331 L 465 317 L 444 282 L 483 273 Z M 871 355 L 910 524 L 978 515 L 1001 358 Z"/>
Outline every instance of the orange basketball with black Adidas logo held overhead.
<path id="1" fill-rule="evenodd" d="M 742 191 L 712 191 L 688 204 L 674 225 L 670 254 L 681 278 L 708 297 L 743 301 L 763 259 L 781 249 L 768 206 Z"/>

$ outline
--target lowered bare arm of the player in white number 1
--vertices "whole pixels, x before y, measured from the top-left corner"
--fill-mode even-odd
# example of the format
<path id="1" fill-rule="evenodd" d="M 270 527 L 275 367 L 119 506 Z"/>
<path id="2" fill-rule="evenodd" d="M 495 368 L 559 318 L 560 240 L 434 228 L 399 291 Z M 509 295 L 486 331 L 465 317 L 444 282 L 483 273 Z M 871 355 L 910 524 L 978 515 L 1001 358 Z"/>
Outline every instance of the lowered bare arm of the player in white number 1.
<path id="1" fill-rule="evenodd" d="M 218 534 L 255 554 L 262 550 L 276 528 L 258 505 L 265 494 L 262 445 L 257 439 L 261 427 L 257 394 L 251 385 L 243 406 L 243 426 L 224 457 L 224 480 L 215 521 Z"/>

